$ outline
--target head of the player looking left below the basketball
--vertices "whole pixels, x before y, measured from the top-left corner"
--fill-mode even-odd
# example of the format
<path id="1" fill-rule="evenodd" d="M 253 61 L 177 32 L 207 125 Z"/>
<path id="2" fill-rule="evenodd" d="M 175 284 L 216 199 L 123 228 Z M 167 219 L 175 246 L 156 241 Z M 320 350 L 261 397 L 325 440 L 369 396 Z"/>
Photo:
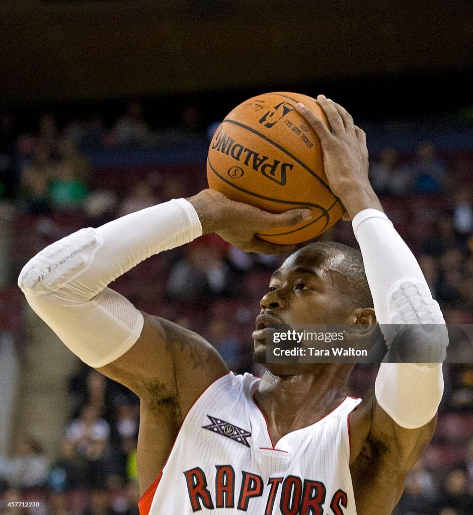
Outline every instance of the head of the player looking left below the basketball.
<path id="1" fill-rule="evenodd" d="M 265 325 L 376 321 L 360 251 L 333 242 L 311 243 L 291 254 L 273 273 L 260 305 L 254 333 L 260 363 Z"/>

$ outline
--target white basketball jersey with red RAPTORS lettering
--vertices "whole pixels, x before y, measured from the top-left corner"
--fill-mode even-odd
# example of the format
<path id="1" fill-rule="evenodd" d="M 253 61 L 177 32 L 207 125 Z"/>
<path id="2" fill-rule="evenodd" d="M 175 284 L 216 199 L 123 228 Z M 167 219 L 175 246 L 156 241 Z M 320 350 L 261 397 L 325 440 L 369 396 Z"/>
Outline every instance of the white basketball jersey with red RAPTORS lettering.
<path id="1" fill-rule="evenodd" d="M 361 399 L 273 443 L 253 398 L 258 381 L 228 373 L 202 393 L 141 515 L 356 515 L 348 415 Z"/>

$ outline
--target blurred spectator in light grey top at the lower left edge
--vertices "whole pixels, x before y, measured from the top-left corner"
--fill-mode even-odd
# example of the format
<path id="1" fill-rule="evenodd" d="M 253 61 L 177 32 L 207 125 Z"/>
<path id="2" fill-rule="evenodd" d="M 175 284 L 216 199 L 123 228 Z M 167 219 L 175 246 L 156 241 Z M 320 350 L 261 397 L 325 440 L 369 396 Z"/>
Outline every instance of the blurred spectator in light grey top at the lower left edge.
<path id="1" fill-rule="evenodd" d="M 34 438 L 20 440 L 13 458 L 0 458 L 0 479 L 15 488 L 33 488 L 46 484 L 49 459 Z"/>

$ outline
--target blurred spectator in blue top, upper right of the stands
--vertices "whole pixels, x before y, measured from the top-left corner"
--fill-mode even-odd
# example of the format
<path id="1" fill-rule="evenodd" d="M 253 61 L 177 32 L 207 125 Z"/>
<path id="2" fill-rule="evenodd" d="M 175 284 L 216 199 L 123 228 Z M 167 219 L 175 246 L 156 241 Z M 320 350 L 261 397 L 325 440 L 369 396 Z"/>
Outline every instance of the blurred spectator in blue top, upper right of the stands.
<path id="1" fill-rule="evenodd" d="M 417 147 L 416 159 L 410 163 L 414 190 L 418 193 L 437 193 L 444 189 L 447 167 L 436 157 L 435 147 L 425 141 Z"/>

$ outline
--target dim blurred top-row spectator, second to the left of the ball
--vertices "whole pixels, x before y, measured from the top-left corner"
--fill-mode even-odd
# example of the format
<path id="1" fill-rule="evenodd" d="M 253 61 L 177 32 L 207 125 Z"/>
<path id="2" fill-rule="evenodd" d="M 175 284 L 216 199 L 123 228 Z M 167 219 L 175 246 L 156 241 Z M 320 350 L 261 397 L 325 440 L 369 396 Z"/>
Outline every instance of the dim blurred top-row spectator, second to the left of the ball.
<path id="1" fill-rule="evenodd" d="M 115 123 L 108 140 L 115 146 L 148 145 L 153 141 L 153 134 L 144 120 L 140 102 L 128 104 L 125 114 Z"/>

